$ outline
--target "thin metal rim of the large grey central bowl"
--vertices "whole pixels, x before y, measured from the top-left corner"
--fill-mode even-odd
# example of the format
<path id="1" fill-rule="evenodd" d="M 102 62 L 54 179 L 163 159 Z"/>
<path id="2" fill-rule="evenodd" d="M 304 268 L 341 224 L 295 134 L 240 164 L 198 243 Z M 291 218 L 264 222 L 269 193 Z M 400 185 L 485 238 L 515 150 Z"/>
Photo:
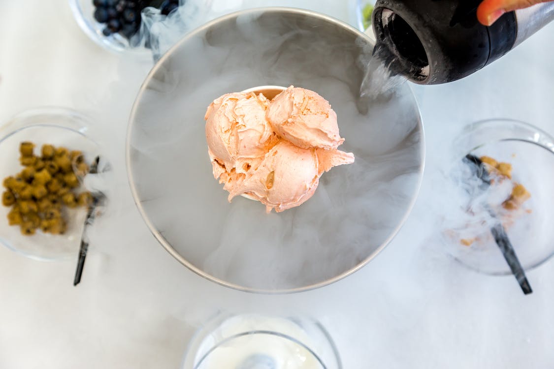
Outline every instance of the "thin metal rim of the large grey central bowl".
<path id="1" fill-rule="evenodd" d="M 131 194 L 133 196 L 133 200 L 135 202 L 135 205 L 137 206 L 137 209 L 140 212 L 142 220 L 146 223 L 146 225 L 150 229 L 150 232 L 156 238 L 156 240 L 162 245 L 162 247 L 165 248 L 165 250 L 168 253 L 170 253 L 171 256 L 173 256 L 175 259 L 177 259 L 177 261 L 179 261 L 181 264 L 186 266 L 192 272 L 198 274 L 198 276 L 203 277 L 207 280 L 210 280 L 211 282 L 215 282 L 215 283 L 217 283 L 219 285 L 222 285 L 224 287 L 232 288 L 232 289 L 243 291 L 243 292 L 262 293 L 262 294 L 298 293 L 298 292 L 305 292 L 305 291 L 316 289 L 316 288 L 321 288 L 321 287 L 324 287 L 326 285 L 335 283 L 338 280 L 341 280 L 341 279 L 343 279 L 347 276 L 350 276 L 351 274 L 357 272 L 362 267 L 365 267 L 370 261 L 373 260 L 373 258 L 375 258 L 383 250 L 384 247 L 386 247 L 393 240 L 393 238 L 397 235 L 398 231 L 402 228 L 402 226 L 404 225 L 404 223 L 408 219 L 408 216 L 412 212 L 412 209 L 413 209 L 414 205 L 416 204 L 416 200 L 418 198 L 419 190 L 420 190 L 422 180 L 423 180 L 423 171 L 424 171 L 424 167 L 425 167 L 425 134 L 424 134 L 424 129 L 423 129 L 421 112 L 419 110 L 419 105 L 417 104 L 417 100 L 416 100 L 416 98 L 413 94 L 413 90 L 412 90 L 411 86 L 406 85 L 408 87 L 409 91 L 411 92 L 412 97 L 413 97 L 414 105 L 415 105 L 416 112 L 417 112 L 417 118 L 418 118 L 417 128 L 418 128 L 418 131 L 421 133 L 421 139 L 420 139 L 420 144 L 419 144 L 420 145 L 420 155 L 421 155 L 421 158 L 420 158 L 421 159 L 420 160 L 421 165 L 420 165 L 418 173 L 417 173 L 418 174 L 418 181 L 417 181 L 417 185 L 414 188 L 412 199 L 411 199 L 411 201 L 409 202 L 409 204 L 407 206 L 406 212 L 404 212 L 404 215 L 402 216 L 401 220 L 399 220 L 398 225 L 396 226 L 396 228 L 394 228 L 394 230 L 386 238 L 386 240 L 384 240 L 381 243 L 381 245 L 379 245 L 379 247 L 377 247 L 376 250 L 373 253 L 371 253 L 370 256 L 363 259 L 363 261 L 358 263 L 355 267 L 353 267 L 351 269 L 348 269 L 347 271 L 342 272 L 342 273 L 338 274 L 337 276 L 335 276 L 333 278 L 323 280 L 322 282 L 317 282 L 317 283 L 314 283 L 314 284 L 306 285 L 304 287 L 295 287 L 295 288 L 288 288 L 288 289 L 260 289 L 260 288 L 244 287 L 243 285 L 230 283 L 230 282 L 227 282 L 223 279 L 214 277 L 211 274 L 208 274 L 208 273 L 204 272 L 201 268 L 199 268 L 197 266 L 194 266 L 194 264 L 192 264 L 186 258 L 181 256 L 181 254 L 179 254 L 170 245 L 170 243 L 167 242 L 167 240 L 165 240 L 165 238 L 160 234 L 160 232 L 158 232 L 158 230 L 156 230 L 156 227 L 152 224 L 152 222 L 148 218 L 148 215 L 146 214 L 146 211 L 142 207 L 141 201 L 139 199 L 139 194 L 137 193 L 137 189 L 136 189 L 136 186 L 135 186 L 135 183 L 134 183 L 133 171 L 131 169 L 130 150 L 131 150 L 131 134 L 132 134 L 132 128 L 133 128 L 132 122 L 134 121 L 136 113 L 137 113 L 137 102 L 139 101 L 140 96 L 143 94 L 143 92 L 145 92 L 145 90 L 147 88 L 147 81 L 149 81 L 151 79 L 151 77 L 156 74 L 156 72 L 162 67 L 163 63 L 170 57 L 170 55 L 173 54 L 173 51 L 178 49 L 181 46 L 181 44 L 185 43 L 188 39 L 194 37 L 194 35 L 198 34 L 199 32 L 203 32 L 204 30 L 207 30 L 207 29 L 211 28 L 213 25 L 215 25 L 219 22 L 223 22 L 225 20 L 237 18 L 238 15 L 261 14 L 261 13 L 264 13 L 264 12 L 289 12 L 289 13 L 294 13 L 294 14 L 307 15 L 309 17 L 316 17 L 316 18 L 319 18 L 321 20 L 324 20 L 325 22 L 329 22 L 329 23 L 335 24 L 337 26 L 340 26 L 343 29 L 349 30 L 353 34 L 357 34 L 358 37 L 365 39 L 368 43 L 370 43 L 372 45 L 374 44 L 371 37 L 369 37 L 365 33 L 360 32 L 360 30 L 358 30 L 355 27 L 352 27 L 350 24 L 341 22 L 340 20 L 338 20 L 336 18 L 333 18 L 333 17 L 330 17 L 329 15 L 309 11 L 309 10 L 306 10 L 306 9 L 289 8 L 289 7 L 253 8 L 253 9 L 247 9 L 247 10 L 244 10 L 244 11 L 229 13 L 229 14 L 223 15 L 222 17 L 211 20 L 210 22 L 208 22 L 206 24 L 203 24 L 201 27 L 198 27 L 198 28 L 192 30 L 191 32 L 189 32 L 187 35 L 185 35 L 181 40 L 178 41 L 177 44 L 173 45 L 157 61 L 157 63 L 152 67 L 150 72 L 148 72 L 148 75 L 146 76 L 145 81 L 142 83 L 141 88 L 140 88 L 139 92 L 137 93 L 137 97 L 135 98 L 135 102 L 133 103 L 133 107 L 131 109 L 131 113 L 130 113 L 130 116 L 129 116 L 129 123 L 128 123 L 128 126 L 127 126 L 127 138 L 126 138 L 126 143 L 125 143 L 125 164 L 126 164 L 126 167 L 127 167 L 127 180 L 129 181 Z"/>

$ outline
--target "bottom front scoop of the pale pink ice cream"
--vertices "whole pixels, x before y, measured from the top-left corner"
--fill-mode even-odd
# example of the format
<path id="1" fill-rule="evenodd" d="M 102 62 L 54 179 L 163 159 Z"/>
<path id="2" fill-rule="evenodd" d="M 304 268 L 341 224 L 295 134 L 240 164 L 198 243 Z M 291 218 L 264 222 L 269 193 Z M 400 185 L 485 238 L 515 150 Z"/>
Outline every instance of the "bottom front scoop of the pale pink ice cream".
<path id="1" fill-rule="evenodd" d="M 265 205 L 266 211 L 280 212 L 302 204 L 319 184 L 319 162 L 314 149 L 302 149 L 279 141 L 265 155 L 258 168 L 229 193 L 247 194 Z"/>

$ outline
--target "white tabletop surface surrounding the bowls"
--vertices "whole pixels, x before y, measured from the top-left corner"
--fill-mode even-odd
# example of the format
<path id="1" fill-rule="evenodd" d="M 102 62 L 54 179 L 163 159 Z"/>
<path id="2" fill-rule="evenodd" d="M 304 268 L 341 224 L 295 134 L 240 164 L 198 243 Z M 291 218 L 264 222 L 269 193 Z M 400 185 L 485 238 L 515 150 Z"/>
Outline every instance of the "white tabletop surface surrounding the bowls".
<path id="1" fill-rule="evenodd" d="M 349 19 L 346 5 L 305 3 Z M 462 81 L 413 86 L 427 169 L 454 128 L 478 119 L 517 118 L 554 133 L 553 44 L 551 24 Z M 118 184 L 117 210 L 98 222 L 78 287 L 74 261 L 0 247 L 1 369 L 178 368 L 192 333 L 216 311 L 315 316 L 347 369 L 554 367 L 554 262 L 527 273 L 528 296 L 513 277 L 461 267 L 432 242 L 428 208 L 438 200 L 428 176 L 392 243 L 328 287 L 248 294 L 188 271 L 148 231 L 126 183 L 126 119 L 149 68 L 90 41 L 64 0 L 0 2 L 0 122 L 37 106 L 89 113 Z"/>

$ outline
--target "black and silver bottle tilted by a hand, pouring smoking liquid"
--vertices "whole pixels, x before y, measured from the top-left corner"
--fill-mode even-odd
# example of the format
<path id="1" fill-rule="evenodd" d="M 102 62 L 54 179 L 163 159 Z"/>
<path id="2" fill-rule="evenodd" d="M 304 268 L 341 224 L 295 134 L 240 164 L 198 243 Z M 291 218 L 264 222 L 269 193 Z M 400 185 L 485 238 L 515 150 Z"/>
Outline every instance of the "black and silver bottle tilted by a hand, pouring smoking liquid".
<path id="1" fill-rule="evenodd" d="M 554 2 L 548 2 L 505 13 L 485 27 L 476 15 L 481 1 L 378 0 L 375 53 L 417 84 L 443 84 L 492 63 L 554 19 Z"/>

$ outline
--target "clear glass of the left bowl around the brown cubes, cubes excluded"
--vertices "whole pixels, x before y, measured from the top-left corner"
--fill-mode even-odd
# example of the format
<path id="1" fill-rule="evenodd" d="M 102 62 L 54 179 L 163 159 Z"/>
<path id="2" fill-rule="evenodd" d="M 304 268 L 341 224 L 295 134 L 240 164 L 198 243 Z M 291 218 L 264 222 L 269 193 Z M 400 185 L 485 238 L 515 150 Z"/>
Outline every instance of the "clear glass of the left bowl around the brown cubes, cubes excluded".
<path id="1" fill-rule="evenodd" d="M 91 123 L 81 113 L 65 108 L 44 107 L 25 111 L 0 127 L 0 177 L 19 173 L 19 144 L 31 141 L 35 154 L 42 144 L 81 150 L 87 163 L 99 154 L 99 145 L 89 137 Z M 3 191 L 3 188 L 2 188 Z M 0 242 L 24 256 L 42 261 L 74 259 L 78 256 L 81 234 L 86 217 L 82 207 L 68 209 L 67 231 L 52 235 L 37 230 L 32 236 L 23 236 L 18 226 L 9 226 L 6 219 L 9 207 L 0 206 Z"/>

